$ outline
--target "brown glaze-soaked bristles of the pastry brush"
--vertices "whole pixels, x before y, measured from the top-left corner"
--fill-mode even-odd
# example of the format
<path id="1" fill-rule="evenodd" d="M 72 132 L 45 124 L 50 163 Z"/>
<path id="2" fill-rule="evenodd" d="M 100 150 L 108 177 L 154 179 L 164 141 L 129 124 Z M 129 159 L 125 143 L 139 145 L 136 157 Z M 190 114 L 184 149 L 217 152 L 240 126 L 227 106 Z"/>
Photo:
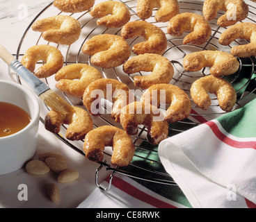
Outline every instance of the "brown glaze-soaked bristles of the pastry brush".
<path id="1" fill-rule="evenodd" d="M 48 89 L 39 96 L 42 101 L 48 105 L 52 110 L 67 114 L 72 112 L 73 108 L 70 104 L 64 101 L 61 96 L 58 96 L 54 91 Z"/>

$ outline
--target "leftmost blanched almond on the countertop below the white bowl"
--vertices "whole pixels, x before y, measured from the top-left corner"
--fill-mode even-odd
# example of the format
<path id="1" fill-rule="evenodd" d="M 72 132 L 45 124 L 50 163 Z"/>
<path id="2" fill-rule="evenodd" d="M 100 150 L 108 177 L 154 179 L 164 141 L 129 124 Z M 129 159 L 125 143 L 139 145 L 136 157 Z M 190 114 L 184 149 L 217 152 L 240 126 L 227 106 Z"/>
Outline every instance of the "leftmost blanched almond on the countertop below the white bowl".
<path id="1" fill-rule="evenodd" d="M 26 171 L 32 175 L 42 175 L 48 173 L 50 168 L 41 160 L 31 160 L 26 164 Z"/>

